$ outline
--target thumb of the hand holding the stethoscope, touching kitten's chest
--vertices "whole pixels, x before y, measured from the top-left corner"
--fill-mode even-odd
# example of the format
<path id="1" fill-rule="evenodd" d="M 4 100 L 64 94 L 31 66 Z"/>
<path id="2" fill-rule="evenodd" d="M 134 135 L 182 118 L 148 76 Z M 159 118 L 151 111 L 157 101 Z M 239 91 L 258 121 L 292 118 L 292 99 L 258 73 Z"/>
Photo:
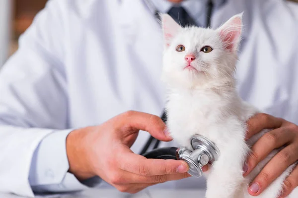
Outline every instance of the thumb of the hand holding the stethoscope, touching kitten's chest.
<path id="1" fill-rule="evenodd" d="M 148 131 L 154 138 L 160 141 L 171 141 L 172 138 L 165 134 L 165 123 L 156 115 L 138 111 L 127 111 L 122 114 L 125 117 L 123 126 Z M 134 130 L 125 130 L 135 132 Z"/>

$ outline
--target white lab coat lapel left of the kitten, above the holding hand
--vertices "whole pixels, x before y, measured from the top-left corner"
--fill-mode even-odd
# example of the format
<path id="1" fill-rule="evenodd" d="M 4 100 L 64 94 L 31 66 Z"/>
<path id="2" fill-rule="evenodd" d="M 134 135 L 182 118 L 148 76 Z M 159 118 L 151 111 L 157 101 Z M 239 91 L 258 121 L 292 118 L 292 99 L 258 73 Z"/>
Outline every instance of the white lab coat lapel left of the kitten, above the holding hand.
<path id="1" fill-rule="evenodd" d="M 125 59 L 132 68 L 132 78 L 137 93 L 134 93 L 133 110 L 160 116 L 164 108 L 163 83 L 160 81 L 162 69 L 162 35 L 161 29 L 143 0 L 122 0 L 119 21 L 124 41 Z M 128 100 L 128 102 L 131 102 Z M 140 152 L 144 139 L 149 134 L 140 131 L 132 146 L 134 152 Z"/>

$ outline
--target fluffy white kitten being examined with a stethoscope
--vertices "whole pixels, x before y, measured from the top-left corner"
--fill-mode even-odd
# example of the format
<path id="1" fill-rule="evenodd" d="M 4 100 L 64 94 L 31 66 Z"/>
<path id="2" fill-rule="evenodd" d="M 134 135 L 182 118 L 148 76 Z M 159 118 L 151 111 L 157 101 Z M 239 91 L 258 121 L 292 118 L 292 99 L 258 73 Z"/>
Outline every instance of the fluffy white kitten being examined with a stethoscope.
<path id="1" fill-rule="evenodd" d="M 266 131 L 245 142 L 246 121 L 259 112 L 242 101 L 233 78 L 242 29 L 242 13 L 216 30 L 180 27 L 163 14 L 164 56 L 162 78 L 166 83 L 167 127 L 180 146 L 200 134 L 221 151 L 204 175 L 207 198 L 254 198 L 247 192 L 250 181 L 277 153 L 274 150 L 246 178 L 242 167 L 249 148 Z M 258 198 L 276 198 L 289 167 Z M 298 198 L 298 188 L 289 198 Z"/>

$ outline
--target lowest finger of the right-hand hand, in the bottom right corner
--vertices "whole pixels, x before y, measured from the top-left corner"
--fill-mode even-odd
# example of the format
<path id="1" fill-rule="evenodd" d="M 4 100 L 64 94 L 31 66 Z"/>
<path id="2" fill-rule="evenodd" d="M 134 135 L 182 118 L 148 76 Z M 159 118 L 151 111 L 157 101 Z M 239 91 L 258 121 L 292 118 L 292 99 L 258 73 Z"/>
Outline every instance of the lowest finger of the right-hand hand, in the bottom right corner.
<path id="1" fill-rule="evenodd" d="M 285 179 L 284 188 L 279 198 L 286 198 L 296 187 L 298 187 L 298 166 L 296 166 L 292 173 Z"/>

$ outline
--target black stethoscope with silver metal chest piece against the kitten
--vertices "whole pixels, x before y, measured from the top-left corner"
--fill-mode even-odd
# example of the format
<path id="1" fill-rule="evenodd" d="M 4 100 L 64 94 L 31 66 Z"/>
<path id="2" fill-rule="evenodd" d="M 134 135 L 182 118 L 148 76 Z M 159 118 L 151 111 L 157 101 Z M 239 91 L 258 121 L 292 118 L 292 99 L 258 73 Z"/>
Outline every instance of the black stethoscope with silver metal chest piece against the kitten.
<path id="1" fill-rule="evenodd" d="M 159 12 L 154 7 L 153 3 L 150 0 L 145 0 L 145 3 L 149 7 L 150 11 L 154 14 L 157 22 L 160 22 Z M 207 4 L 207 27 L 210 26 L 210 16 L 212 13 L 213 3 L 212 0 L 208 1 Z M 160 23 L 159 23 L 160 24 Z M 161 119 L 164 123 L 166 123 L 167 116 L 165 111 L 163 111 L 161 115 Z M 150 145 L 154 144 L 153 149 L 148 151 Z M 208 163 L 212 164 L 219 157 L 220 150 L 216 147 L 216 145 L 208 140 L 204 136 L 195 135 L 190 138 L 190 143 L 192 149 L 188 149 L 186 147 L 176 148 L 176 147 L 164 147 L 158 148 L 160 141 L 156 140 L 152 136 L 149 137 L 147 143 L 144 145 L 141 155 L 147 158 L 154 159 L 176 159 L 186 161 L 189 165 L 188 173 L 193 177 L 201 177 L 203 170 L 202 167 L 207 165 Z"/>

